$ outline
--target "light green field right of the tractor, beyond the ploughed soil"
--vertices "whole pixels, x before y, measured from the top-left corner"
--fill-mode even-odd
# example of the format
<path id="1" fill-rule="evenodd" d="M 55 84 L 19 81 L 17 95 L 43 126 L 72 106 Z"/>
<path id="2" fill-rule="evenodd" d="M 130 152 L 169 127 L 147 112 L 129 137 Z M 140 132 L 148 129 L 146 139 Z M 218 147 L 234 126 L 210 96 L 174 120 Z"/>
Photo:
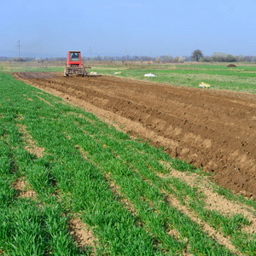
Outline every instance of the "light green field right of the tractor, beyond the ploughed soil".
<path id="1" fill-rule="evenodd" d="M 227 64 L 228 65 L 228 64 Z M 98 73 L 154 81 L 179 86 L 198 87 L 201 82 L 211 84 L 216 90 L 239 90 L 256 93 L 256 65 L 226 67 L 227 65 L 148 65 L 139 67 L 100 67 Z M 156 78 L 144 78 L 145 73 L 154 73 Z"/>

